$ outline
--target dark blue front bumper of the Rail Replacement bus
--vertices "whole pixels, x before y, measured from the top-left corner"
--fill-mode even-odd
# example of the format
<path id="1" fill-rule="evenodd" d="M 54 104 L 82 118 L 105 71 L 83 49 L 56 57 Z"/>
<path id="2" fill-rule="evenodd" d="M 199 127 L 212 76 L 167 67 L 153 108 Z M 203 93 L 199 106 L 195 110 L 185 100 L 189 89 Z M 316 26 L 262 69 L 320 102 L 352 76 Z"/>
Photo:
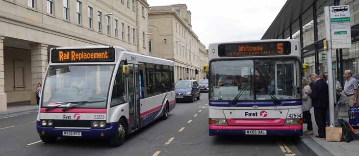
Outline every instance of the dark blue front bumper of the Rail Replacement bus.
<path id="1" fill-rule="evenodd" d="M 40 122 L 36 122 L 36 129 L 39 135 L 51 137 L 77 137 L 77 138 L 111 138 L 115 135 L 118 123 L 107 123 L 104 129 L 55 129 L 53 127 L 42 127 Z M 44 131 L 44 134 L 42 134 Z M 63 131 L 80 131 L 81 136 L 63 136 Z M 103 136 L 101 136 L 103 133 Z"/>

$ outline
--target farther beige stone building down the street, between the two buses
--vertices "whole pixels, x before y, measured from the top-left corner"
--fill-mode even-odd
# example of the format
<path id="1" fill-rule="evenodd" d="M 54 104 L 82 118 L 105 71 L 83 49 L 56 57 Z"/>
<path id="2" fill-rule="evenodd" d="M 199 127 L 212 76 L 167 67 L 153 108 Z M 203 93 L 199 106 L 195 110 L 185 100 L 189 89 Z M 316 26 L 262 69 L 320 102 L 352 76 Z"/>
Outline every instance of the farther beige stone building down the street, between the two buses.
<path id="1" fill-rule="evenodd" d="M 201 48 L 201 41 L 192 30 L 191 12 L 186 4 L 150 7 L 149 31 L 150 55 L 174 61 L 176 81 L 201 79 L 200 49 L 205 48 Z"/>

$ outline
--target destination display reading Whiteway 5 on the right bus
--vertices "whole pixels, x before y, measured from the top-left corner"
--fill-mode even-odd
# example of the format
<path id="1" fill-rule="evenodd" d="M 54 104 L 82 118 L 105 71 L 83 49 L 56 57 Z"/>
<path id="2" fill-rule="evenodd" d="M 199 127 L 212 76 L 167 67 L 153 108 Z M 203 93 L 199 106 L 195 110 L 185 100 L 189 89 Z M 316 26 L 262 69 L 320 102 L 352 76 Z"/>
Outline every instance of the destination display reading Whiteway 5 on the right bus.
<path id="1" fill-rule="evenodd" d="M 290 54 L 290 42 L 231 43 L 218 45 L 218 56 L 259 56 Z"/>

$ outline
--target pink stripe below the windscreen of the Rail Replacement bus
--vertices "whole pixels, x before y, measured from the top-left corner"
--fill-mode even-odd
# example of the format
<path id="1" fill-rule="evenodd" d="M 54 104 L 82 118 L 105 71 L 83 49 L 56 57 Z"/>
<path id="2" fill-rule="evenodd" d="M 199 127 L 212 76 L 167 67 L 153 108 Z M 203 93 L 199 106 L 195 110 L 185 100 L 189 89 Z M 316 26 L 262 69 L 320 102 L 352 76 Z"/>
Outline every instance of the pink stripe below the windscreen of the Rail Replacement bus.
<path id="1" fill-rule="evenodd" d="M 106 108 L 72 108 L 65 112 L 62 111 L 63 108 L 54 108 L 49 111 L 46 111 L 46 108 L 41 108 L 40 112 L 42 113 L 106 113 Z"/>

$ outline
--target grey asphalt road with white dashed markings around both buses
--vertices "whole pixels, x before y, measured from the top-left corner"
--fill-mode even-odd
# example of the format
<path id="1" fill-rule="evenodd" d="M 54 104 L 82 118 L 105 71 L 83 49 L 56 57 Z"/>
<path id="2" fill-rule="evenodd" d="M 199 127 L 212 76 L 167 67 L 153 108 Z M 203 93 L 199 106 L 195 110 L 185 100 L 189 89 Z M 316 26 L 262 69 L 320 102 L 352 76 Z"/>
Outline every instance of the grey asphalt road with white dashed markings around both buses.
<path id="1" fill-rule="evenodd" d="M 0 117 L 0 156 L 307 156 L 285 137 L 209 136 L 208 98 L 177 103 L 167 120 L 130 134 L 120 147 L 107 140 L 40 141 L 36 112 Z M 294 139 L 295 140 L 295 139 Z"/>

